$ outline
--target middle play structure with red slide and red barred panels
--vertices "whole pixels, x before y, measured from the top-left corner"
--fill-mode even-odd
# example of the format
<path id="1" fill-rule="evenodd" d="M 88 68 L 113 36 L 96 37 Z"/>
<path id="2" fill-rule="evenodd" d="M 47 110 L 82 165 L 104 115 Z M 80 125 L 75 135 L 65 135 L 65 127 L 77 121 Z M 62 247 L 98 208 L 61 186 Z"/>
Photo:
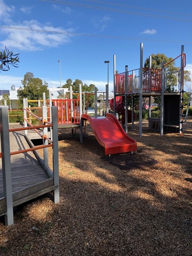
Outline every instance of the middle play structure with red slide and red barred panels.
<path id="1" fill-rule="evenodd" d="M 107 92 L 108 86 L 106 86 L 106 89 Z M 71 89 L 70 91 L 72 92 Z M 95 99 L 97 99 L 97 93 L 98 92 L 95 91 Z M 28 115 L 27 112 L 24 113 L 25 127 L 27 127 L 27 125 L 31 125 L 33 119 L 30 115 L 30 111 L 33 111 L 34 109 L 36 111 L 39 111 L 39 118 L 44 119 L 44 117 L 41 117 L 41 107 L 39 106 L 38 108 L 31 108 L 31 106 L 28 105 L 29 102 L 30 101 L 28 101 L 27 99 L 24 99 L 24 109 L 29 111 Z M 38 104 L 39 103 L 40 102 L 38 102 Z M 81 142 L 83 138 L 83 126 L 85 130 L 86 121 L 88 120 L 92 126 L 96 139 L 105 148 L 105 155 L 133 152 L 137 150 L 136 141 L 125 134 L 121 124 L 116 119 L 116 117 L 114 117 L 114 115 L 107 113 L 106 117 L 97 116 L 97 104 L 95 104 L 94 117 L 90 117 L 88 114 L 86 114 L 86 111 L 83 111 L 84 113 L 82 114 L 81 84 L 79 84 L 79 95 L 76 99 L 73 99 L 73 94 L 71 93 L 70 99 L 52 100 L 50 95 L 49 100 L 46 100 L 44 93 L 43 105 L 44 106 L 42 106 L 42 108 L 47 108 L 46 119 L 50 123 L 52 122 L 51 115 L 49 113 L 50 105 L 54 105 L 57 107 L 58 129 L 71 129 L 73 134 L 73 131 L 79 128 Z M 51 131 L 49 136 L 50 138 L 52 138 Z"/>

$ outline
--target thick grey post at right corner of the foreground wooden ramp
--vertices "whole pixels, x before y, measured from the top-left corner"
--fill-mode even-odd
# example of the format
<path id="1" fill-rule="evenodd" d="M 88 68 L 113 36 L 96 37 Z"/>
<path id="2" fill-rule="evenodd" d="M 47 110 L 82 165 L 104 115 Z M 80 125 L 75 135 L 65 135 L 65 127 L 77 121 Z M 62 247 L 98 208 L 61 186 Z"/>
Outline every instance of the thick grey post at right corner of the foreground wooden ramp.
<path id="1" fill-rule="evenodd" d="M 54 190 L 54 203 L 59 203 L 59 159 L 57 107 L 51 106 L 53 124 L 53 180 L 58 187 Z"/>

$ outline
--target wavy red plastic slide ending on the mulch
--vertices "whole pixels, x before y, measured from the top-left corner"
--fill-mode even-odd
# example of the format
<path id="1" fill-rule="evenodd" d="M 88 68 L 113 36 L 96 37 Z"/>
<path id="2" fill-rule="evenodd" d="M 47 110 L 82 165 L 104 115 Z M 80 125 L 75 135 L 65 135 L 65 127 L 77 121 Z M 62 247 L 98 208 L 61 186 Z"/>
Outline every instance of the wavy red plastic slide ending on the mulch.
<path id="1" fill-rule="evenodd" d="M 114 115 L 90 117 L 87 114 L 82 114 L 81 118 L 89 121 L 97 141 L 105 148 L 105 155 L 137 150 L 137 142 L 125 133 Z"/>

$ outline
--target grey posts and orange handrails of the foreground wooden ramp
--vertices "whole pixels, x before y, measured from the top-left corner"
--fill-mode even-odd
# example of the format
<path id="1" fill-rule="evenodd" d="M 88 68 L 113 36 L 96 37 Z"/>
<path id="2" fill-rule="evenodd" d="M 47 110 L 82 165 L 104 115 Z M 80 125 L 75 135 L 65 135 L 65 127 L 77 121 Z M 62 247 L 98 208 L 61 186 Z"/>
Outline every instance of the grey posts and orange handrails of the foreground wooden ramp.
<path id="1" fill-rule="evenodd" d="M 42 107 L 44 108 L 44 107 Z M 0 125 L 1 125 L 1 158 L 2 158 L 2 170 L 3 170 L 3 188 L 4 188 L 4 197 L 6 200 L 6 213 L 5 213 L 5 224 L 11 225 L 13 224 L 13 196 L 12 196 L 12 177 L 11 177 L 11 156 L 25 153 L 29 151 L 33 151 L 34 153 L 39 150 L 40 148 L 44 149 L 44 160 L 40 163 L 42 167 L 46 170 L 49 168 L 49 161 L 48 161 L 48 147 L 53 148 L 53 170 L 52 170 L 52 178 L 53 178 L 53 185 L 54 185 L 54 202 L 59 202 L 59 175 L 58 175 L 58 124 L 57 124 L 57 107 L 51 106 L 51 115 L 52 115 L 52 123 L 49 123 L 46 118 L 42 119 L 33 115 L 33 117 L 37 118 L 39 121 L 42 122 L 42 125 L 33 126 L 29 121 L 26 119 L 26 113 L 29 112 L 27 109 L 24 108 L 24 123 L 25 127 L 9 129 L 9 116 L 8 116 L 8 107 L 7 106 L 0 106 Z M 42 110 L 42 113 L 45 115 L 47 114 L 47 107 Z M 27 126 L 26 123 L 28 123 Z M 52 140 L 50 140 L 47 136 L 48 127 L 52 130 Z M 43 129 L 43 134 L 40 134 L 37 129 Z M 16 132 L 16 131 L 28 131 L 34 130 L 38 133 L 38 135 L 43 139 L 43 145 L 34 146 L 33 143 L 30 143 L 31 148 L 26 148 L 25 150 L 19 150 L 16 152 L 10 152 L 10 139 L 9 133 Z M 26 135 L 26 134 L 25 134 Z M 26 140 L 28 140 L 26 138 Z M 49 144 L 48 144 L 49 141 Z M 49 173 L 50 176 L 50 173 Z"/>

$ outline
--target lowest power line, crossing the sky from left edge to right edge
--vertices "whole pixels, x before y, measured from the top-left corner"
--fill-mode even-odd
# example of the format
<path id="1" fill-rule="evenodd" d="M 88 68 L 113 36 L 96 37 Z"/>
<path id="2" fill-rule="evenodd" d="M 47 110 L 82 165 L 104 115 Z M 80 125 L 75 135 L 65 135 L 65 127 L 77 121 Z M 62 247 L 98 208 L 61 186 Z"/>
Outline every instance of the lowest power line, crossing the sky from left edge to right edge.
<path id="1" fill-rule="evenodd" d="M 44 29 L 29 29 L 29 28 L 20 28 L 20 27 L 8 27 L 8 26 L 0 26 L 2 29 L 13 29 L 13 30 L 25 30 L 25 31 L 33 31 L 33 32 L 43 32 L 43 33 L 54 33 L 54 34 L 64 34 L 64 35 L 79 35 L 79 36 L 91 36 L 91 37 L 103 37 L 103 38 L 113 38 L 113 39 L 124 39 L 124 40 L 140 40 L 140 41 L 157 41 L 157 42 L 172 42 L 179 44 L 191 44 L 190 41 L 174 41 L 174 40 L 159 40 L 159 39 L 145 39 L 145 38 L 134 38 L 134 37 L 123 37 L 123 36 L 109 36 L 109 35 L 93 35 L 93 34 L 84 34 L 84 33 L 71 33 L 71 32 L 63 32 L 63 31 L 52 31 L 52 30 L 44 30 Z"/>

